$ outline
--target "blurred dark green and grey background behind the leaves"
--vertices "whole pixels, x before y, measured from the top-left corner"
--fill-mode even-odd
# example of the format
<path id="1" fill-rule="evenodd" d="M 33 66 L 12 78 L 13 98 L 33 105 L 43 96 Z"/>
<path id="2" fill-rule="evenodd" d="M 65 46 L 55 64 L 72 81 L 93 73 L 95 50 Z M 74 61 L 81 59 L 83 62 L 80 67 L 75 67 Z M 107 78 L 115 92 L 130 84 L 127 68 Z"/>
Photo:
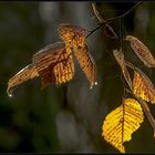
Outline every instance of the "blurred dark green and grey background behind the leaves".
<path id="1" fill-rule="evenodd" d="M 124 13 L 134 2 L 97 2 L 104 18 Z M 97 86 L 89 82 L 75 61 L 75 76 L 66 84 L 40 90 L 40 79 L 21 84 L 9 97 L 8 80 L 31 63 L 32 55 L 46 44 L 60 41 L 58 25 L 72 23 L 92 30 L 97 24 L 91 2 L 0 2 L 0 152 L 29 153 L 118 153 L 102 135 L 105 116 L 121 105 L 121 69 L 112 50 L 117 40 L 103 29 L 89 37 L 89 50 L 97 64 Z M 118 34 L 118 21 L 111 25 Z M 144 1 L 123 20 L 123 34 L 143 41 L 155 55 L 155 2 Z M 126 60 L 147 69 L 127 44 Z M 155 106 L 151 105 L 155 116 Z M 155 153 L 153 130 L 145 118 L 125 143 L 126 153 Z"/>

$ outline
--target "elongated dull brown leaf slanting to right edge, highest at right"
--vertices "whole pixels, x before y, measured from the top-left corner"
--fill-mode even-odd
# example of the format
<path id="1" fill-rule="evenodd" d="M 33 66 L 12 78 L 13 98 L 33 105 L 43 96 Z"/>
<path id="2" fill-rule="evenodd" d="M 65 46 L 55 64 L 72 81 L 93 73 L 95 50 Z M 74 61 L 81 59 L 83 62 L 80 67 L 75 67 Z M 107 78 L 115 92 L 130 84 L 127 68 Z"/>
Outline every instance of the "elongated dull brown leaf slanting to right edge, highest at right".
<path id="1" fill-rule="evenodd" d="M 132 49 L 146 66 L 155 68 L 155 59 L 146 45 L 133 35 L 126 35 L 125 40 L 130 41 Z"/>

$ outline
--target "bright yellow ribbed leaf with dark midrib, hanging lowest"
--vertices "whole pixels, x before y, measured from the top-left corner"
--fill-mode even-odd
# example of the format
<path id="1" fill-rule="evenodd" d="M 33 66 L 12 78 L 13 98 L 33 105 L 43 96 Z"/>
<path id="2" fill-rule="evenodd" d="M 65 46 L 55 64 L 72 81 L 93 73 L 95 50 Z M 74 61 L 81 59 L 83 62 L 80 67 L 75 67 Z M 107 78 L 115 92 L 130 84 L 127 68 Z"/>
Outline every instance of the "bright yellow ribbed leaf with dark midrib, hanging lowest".
<path id="1" fill-rule="evenodd" d="M 105 117 L 102 136 L 121 153 L 125 153 L 124 142 L 131 141 L 143 118 L 141 104 L 134 99 L 125 99 L 123 105 Z"/>

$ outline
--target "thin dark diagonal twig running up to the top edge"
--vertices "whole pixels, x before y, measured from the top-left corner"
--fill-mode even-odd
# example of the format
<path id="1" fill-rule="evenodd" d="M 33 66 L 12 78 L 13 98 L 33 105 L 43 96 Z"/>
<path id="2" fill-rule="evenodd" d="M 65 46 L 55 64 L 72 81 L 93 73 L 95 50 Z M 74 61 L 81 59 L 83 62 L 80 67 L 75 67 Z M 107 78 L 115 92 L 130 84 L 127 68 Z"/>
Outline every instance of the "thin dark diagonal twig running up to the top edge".
<path id="1" fill-rule="evenodd" d="M 120 16 L 120 17 L 115 17 L 115 18 L 111 18 L 107 20 L 104 20 L 103 22 L 99 23 L 96 28 L 94 28 L 92 31 L 90 31 L 90 33 L 86 35 L 86 38 L 89 38 L 93 32 L 95 32 L 97 29 L 100 29 L 102 25 L 107 24 L 108 22 L 112 22 L 114 20 L 118 20 L 118 19 L 123 19 L 125 16 L 130 14 L 136 7 L 138 7 L 142 3 L 138 2 L 136 3 L 133 8 L 131 8 L 127 12 L 125 12 L 124 14 Z"/>

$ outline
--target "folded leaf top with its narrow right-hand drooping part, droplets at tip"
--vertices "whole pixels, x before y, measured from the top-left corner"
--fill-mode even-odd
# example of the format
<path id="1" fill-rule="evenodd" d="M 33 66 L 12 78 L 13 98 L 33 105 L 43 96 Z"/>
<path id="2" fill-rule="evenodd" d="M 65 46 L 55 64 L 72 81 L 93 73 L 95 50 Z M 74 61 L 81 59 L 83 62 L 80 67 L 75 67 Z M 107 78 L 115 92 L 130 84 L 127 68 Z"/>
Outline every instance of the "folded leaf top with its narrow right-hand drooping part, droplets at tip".
<path id="1" fill-rule="evenodd" d="M 90 87 L 96 85 L 96 64 L 86 45 L 87 30 L 71 24 L 60 24 L 59 34 L 66 48 L 72 48 L 76 60 L 90 81 Z"/>

